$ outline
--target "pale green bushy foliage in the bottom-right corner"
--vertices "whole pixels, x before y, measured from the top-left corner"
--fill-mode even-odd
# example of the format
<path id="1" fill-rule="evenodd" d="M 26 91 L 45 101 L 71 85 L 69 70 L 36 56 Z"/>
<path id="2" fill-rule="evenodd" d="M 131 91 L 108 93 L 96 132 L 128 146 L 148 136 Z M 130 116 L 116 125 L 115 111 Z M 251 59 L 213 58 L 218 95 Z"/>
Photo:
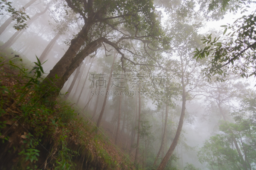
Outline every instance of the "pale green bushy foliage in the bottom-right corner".
<path id="1" fill-rule="evenodd" d="M 240 117 L 235 123 L 222 122 L 220 131 L 222 134 L 205 141 L 198 152 L 199 161 L 207 162 L 213 169 L 255 169 L 256 128 L 252 120 Z"/>

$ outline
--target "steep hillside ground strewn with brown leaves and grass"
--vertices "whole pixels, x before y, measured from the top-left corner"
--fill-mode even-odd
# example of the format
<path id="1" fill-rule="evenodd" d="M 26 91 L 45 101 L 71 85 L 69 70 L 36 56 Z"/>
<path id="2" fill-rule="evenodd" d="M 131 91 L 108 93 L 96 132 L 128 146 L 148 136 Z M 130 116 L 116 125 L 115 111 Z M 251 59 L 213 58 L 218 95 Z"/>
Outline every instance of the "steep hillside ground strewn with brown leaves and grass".
<path id="1" fill-rule="evenodd" d="M 95 124 L 61 97 L 49 103 L 20 63 L 0 63 L 0 169 L 135 169 L 125 134 L 115 146 L 112 124 L 102 122 L 106 132 L 95 134 Z"/>

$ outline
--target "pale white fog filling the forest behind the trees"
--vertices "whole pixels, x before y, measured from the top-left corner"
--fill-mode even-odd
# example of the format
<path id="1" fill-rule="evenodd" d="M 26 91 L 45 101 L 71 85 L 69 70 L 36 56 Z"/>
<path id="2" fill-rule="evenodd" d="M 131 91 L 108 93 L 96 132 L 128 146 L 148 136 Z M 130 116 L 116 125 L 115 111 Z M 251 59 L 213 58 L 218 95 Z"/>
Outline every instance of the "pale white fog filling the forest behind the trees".
<path id="1" fill-rule="evenodd" d="M 22 9 L 22 6 L 29 1 L 31 0 L 10 2 L 16 9 Z M 116 20 L 113 22 L 95 22 L 96 24 L 93 23 L 95 25 L 90 28 L 86 41 L 78 48 L 76 55 L 79 55 L 79 52 L 86 48 L 88 43 L 101 35 L 107 37 L 108 41 L 116 43 L 116 37 L 128 37 L 129 34 L 133 38 L 122 40 L 120 47 L 117 47 L 127 60 L 122 61 L 121 52 L 119 53 L 114 45 L 111 46 L 110 43 L 106 43 L 107 41 L 101 42 L 100 46 L 88 54 L 79 63 L 76 70 L 67 77 L 67 81 L 61 87 L 60 97 L 57 101 L 63 100 L 68 103 L 84 119 L 93 123 L 99 122 L 102 134 L 108 136 L 112 144 L 116 144 L 122 152 L 128 154 L 131 161 L 136 159 L 136 148 L 139 148 L 137 159 L 141 169 L 153 167 L 163 139 L 165 141 L 162 152 L 156 159 L 156 165 L 164 160 L 163 158 L 176 139 L 175 135 L 178 134 L 177 129 L 184 111 L 184 122 L 182 122 L 183 126 L 181 125 L 178 143 L 176 147 L 174 146 L 172 156 L 168 159 L 170 164 L 167 166 L 173 169 L 189 169 L 188 164 L 191 164 L 195 168 L 209 170 L 225 169 L 225 167 L 227 169 L 234 167 L 240 169 L 244 167 L 242 162 L 247 159 L 245 158 L 245 151 L 242 149 L 243 144 L 250 145 L 250 142 L 253 143 L 253 137 L 250 138 L 245 135 L 240 138 L 244 140 L 238 143 L 238 148 L 242 152 L 240 159 L 243 161 L 238 160 L 239 151 L 235 147 L 237 144 L 232 142 L 235 139 L 229 138 L 230 145 L 225 146 L 232 148 L 238 157 L 237 166 L 234 165 L 234 167 L 230 166 L 235 164 L 233 159 L 228 160 L 227 158 L 224 162 L 219 160 L 223 155 L 225 157 L 224 153 L 218 152 L 219 156 L 214 155 L 217 154 L 214 152 L 212 157 L 209 156 L 210 152 L 206 153 L 207 150 L 209 151 L 209 147 L 206 148 L 205 142 L 210 141 L 210 137 L 216 135 L 230 135 L 228 130 L 225 131 L 223 128 L 226 125 L 225 122 L 236 124 L 240 120 L 237 117 L 253 120 L 252 115 L 255 115 L 255 112 L 249 108 L 255 103 L 250 103 L 249 99 L 255 99 L 254 85 L 256 82 L 253 79 L 254 75 L 249 76 L 249 78 L 245 78 L 246 76 L 242 78 L 242 73 L 240 74 L 239 71 L 244 67 L 241 66 L 240 70 L 238 68 L 234 71 L 235 66 L 230 63 L 229 68 L 222 74 L 214 74 L 209 79 L 203 70 L 209 67 L 207 63 L 211 61 L 213 56 L 210 55 L 213 52 L 210 52 L 208 58 L 200 59 L 200 57 L 196 60 L 194 51 L 196 48 L 200 50 L 207 46 L 206 43 L 203 44 L 202 39 L 208 37 L 209 34 L 212 36 L 211 40 L 220 37 L 218 42 L 225 42 L 228 39 L 227 34 L 232 30 L 228 29 L 224 36 L 223 31 L 226 27 L 220 26 L 232 25 L 236 19 L 243 15 L 252 14 L 255 11 L 255 5 L 249 4 L 251 8 L 242 14 L 241 11 L 244 9 L 233 12 L 227 10 L 224 13 L 220 10 L 204 13 L 207 9 L 202 10 L 201 1 L 201 4 L 199 1 L 170 1 L 170 4 L 161 4 L 161 2 L 155 1 L 155 12 L 161 16 L 158 17 L 159 23 L 164 28 L 162 31 L 170 38 L 170 47 L 162 46 L 161 43 L 165 42 L 164 38 L 162 40 L 158 38 L 157 41 L 160 40 L 161 42 L 157 42 L 155 46 L 147 44 L 151 39 L 137 40 L 139 38 L 136 39 L 136 29 L 129 30 L 127 25 L 116 26 Z M 189 5 L 189 3 L 191 4 Z M 94 5 L 96 6 L 96 4 Z M 15 24 L 13 21 L 1 33 L 1 54 L 3 53 L 7 58 L 19 54 L 22 58 L 22 64 L 28 70 L 35 66 L 34 62 L 37 62 L 37 56 L 43 63 L 43 77 L 46 78 L 62 56 L 67 55 L 70 44 L 73 43 L 71 40 L 79 36 L 78 33 L 86 24 L 79 12 L 69 8 L 66 1 L 36 0 L 25 9 L 25 12 L 30 18 L 26 21 L 28 22 L 27 28 L 17 31 L 13 28 Z M 38 13 L 40 15 L 33 18 Z M 108 13 L 108 17 L 116 15 L 115 12 L 110 13 Z M 255 14 L 253 15 L 255 16 Z M 85 16 L 87 17 L 87 15 Z M 0 25 L 4 25 L 10 15 L 3 14 L 0 17 Z M 137 21 L 132 20 L 131 22 Z M 100 24 L 105 24 L 105 26 Z M 116 29 L 112 29 L 113 27 Z M 144 27 L 146 30 L 146 26 Z M 140 29 L 142 30 L 144 27 L 141 26 Z M 252 29 L 255 30 L 255 25 Z M 19 34 L 11 39 L 17 32 Z M 143 37 L 143 30 L 140 36 Z M 11 44 L 3 48 L 10 39 Z M 11 54 L 12 52 L 14 54 Z M 251 52 L 254 53 L 252 50 Z M 243 59 L 239 61 L 243 63 Z M 132 62 L 148 65 L 136 65 Z M 251 67 L 247 71 L 253 72 L 254 69 Z M 153 75 L 158 77 L 153 77 Z M 109 92 L 108 95 L 106 95 L 106 91 Z M 139 94 L 139 92 L 142 93 Z M 166 113 L 168 119 L 165 123 Z M 140 122 L 138 122 L 139 114 Z M 99 118 L 100 115 L 102 119 Z M 165 124 L 166 130 L 164 132 Z M 252 125 L 253 128 L 255 128 L 254 125 Z M 116 137 L 117 126 L 119 126 L 119 137 Z M 227 126 L 232 127 L 233 125 Z M 138 136 L 138 127 L 140 128 L 140 136 Z M 236 134 L 242 130 L 238 131 L 233 133 Z M 252 132 L 253 135 L 255 135 L 254 132 Z M 137 146 L 138 137 L 140 141 Z M 217 144 L 216 140 L 212 144 Z M 206 149 L 203 151 L 204 146 Z M 216 148 L 218 147 L 216 146 Z M 251 163 L 246 163 L 250 165 L 250 168 L 247 167 L 247 169 L 256 168 L 255 144 L 252 150 L 248 156 L 250 157 L 248 161 Z M 211 160 L 214 158 L 218 158 L 218 161 Z"/>

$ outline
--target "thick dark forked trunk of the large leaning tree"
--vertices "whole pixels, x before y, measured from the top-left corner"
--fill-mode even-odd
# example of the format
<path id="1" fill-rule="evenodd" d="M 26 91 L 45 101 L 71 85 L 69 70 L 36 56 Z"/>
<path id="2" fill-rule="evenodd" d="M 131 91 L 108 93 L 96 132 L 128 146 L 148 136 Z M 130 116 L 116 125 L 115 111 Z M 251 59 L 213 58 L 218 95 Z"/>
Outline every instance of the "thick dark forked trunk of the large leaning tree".
<path id="1" fill-rule="evenodd" d="M 59 60 L 59 62 L 53 67 L 44 81 L 41 83 L 42 86 L 53 86 L 56 87 L 55 91 L 49 94 L 50 101 L 55 101 L 59 95 L 60 89 L 63 87 L 64 83 L 68 80 L 69 76 L 76 70 L 76 68 L 82 63 L 84 58 L 89 54 L 95 52 L 101 47 L 101 42 L 104 38 L 99 38 L 88 43 L 83 50 L 78 54 L 77 52 L 82 47 L 84 42 L 88 39 L 88 31 L 91 28 L 92 21 L 89 20 L 82 28 L 82 30 L 77 34 L 76 38 L 71 40 L 70 46 L 67 52 Z M 56 75 L 58 78 L 56 78 Z"/>

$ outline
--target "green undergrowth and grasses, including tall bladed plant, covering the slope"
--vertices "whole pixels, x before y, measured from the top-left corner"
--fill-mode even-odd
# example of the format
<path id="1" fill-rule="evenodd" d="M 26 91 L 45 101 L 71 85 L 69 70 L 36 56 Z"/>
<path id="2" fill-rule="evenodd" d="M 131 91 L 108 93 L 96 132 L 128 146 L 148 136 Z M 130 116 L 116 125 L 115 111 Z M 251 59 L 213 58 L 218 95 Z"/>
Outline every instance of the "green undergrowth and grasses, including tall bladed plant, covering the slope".
<path id="1" fill-rule="evenodd" d="M 5 134 L 9 127 L 15 127 L 15 123 L 22 126 L 19 129 L 22 135 L 17 137 L 19 140 L 22 138 L 21 146 L 16 144 L 8 151 L 17 151 L 20 156 L 14 169 L 72 170 L 76 169 L 75 159 L 79 156 L 83 157 L 80 166 L 84 162 L 92 164 L 89 168 L 132 167 L 131 162 L 125 160 L 121 165 L 108 154 L 103 148 L 104 143 L 100 144 L 100 141 L 107 141 L 106 144 L 110 145 L 108 139 L 95 135 L 96 126 L 89 120 L 78 119 L 75 110 L 62 100 L 48 100 L 50 92 L 56 89 L 41 83 L 44 74 L 42 63 L 37 58 L 34 64 L 35 67 L 29 71 L 25 66 L 17 66 L 9 61 L 3 66 L 8 66 L 17 74 L 4 74 L 4 78 L 14 78 L 17 83 L 5 86 L 0 80 L 0 143 L 9 141 Z M 12 124 L 7 123 L 10 118 Z M 23 133 L 24 130 L 26 132 Z"/>

